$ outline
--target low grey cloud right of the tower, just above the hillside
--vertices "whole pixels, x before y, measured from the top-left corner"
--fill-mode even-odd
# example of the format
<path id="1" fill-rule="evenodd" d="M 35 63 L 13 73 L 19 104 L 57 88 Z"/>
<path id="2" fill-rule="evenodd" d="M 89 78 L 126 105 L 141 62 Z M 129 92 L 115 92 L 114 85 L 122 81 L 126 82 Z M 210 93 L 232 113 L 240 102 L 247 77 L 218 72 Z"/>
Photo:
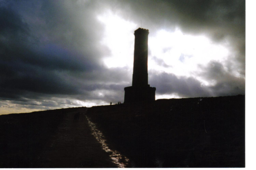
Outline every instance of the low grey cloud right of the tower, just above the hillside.
<path id="1" fill-rule="evenodd" d="M 175 74 L 151 72 L 149 82 L 157 87 L 157 94 L 177 94 L 180 97 L 233 96 L 245 93 L 244 78 L 235 77 L 224 70 L 223 65 L 211 62 L 210 69 L 200 66 L 203 71 L 198 74 L 215 85 L 202 85 L 193 77 L 177 77 Z"/>

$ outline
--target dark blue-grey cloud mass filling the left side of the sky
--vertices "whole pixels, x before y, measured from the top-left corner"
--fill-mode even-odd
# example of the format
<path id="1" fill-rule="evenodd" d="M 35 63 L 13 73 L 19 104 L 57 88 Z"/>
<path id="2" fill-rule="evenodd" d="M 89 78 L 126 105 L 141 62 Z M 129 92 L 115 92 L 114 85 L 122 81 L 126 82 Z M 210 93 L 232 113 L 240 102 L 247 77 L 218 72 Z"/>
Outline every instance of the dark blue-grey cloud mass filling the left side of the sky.
<path id="1" fill-rule="evenodd" d="M 35 5 L 24 2 L 29 7 Z M 17 3 L 16 7 L 24 6 Z M 97 89 L 116 90 L 118 85 L 111 83 L 122 82 L 125 72 L 108 70 L 99 62 L 105 52 L 104 47 L 97 48 L 103 31 L 95 32 L 95 28 L 90 27 L 96 25 L 92 24 L 94 20 L 90 21 L 95 17 L 93 13 L 87 12 L 86 20 L 89 21 L 85 24 L 88 29 L 82 30 L 76 20 L 74 23 L 77 14 L 64 13 L 61 6 L 52 1 L 39 3 L 41 12 L 37 16 L 29 15 L 29 19 L 26 15 L 21 17 L 25 7 L 18 11 L 12 9 L 15 6 L 1 7 L 0 14 L 4 17 L 1 17 L 3 24 L 0 27 L 0 98 L 27 105 L 27 100 L 41 101 L 40 98 L 50 98 L 47 95 L 70 95 L 72 98 L 72 95 L 86 95 Z M 29 12 L 35 11 L 30 9 Z M 39 20 L 36 22 L 41 28 L 38 23 L 33 24 L 34 20 Z M 102 85 L 106 81 L 111 83 Z M 93 99 L 93 96 L 88 96 L 88 99 Z M 45 102 L 41 105 L 53 106 Z"/>

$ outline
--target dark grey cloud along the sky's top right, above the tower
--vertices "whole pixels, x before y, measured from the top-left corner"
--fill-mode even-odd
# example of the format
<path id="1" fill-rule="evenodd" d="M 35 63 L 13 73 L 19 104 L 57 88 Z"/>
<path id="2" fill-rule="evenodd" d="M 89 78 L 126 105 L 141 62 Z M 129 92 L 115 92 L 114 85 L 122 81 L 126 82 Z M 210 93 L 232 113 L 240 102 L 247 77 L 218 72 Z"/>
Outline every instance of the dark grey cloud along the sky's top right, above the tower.
<path id="1" fill-rule="evenodd" d="M 176 26 L 183 31 L 204 33 L 225 31 L 225 35 L 244 33 L 244 0 L 134 0 L 118 1 L 126 18 L 144 20 L 145 28 L 173 29 Z M 131 11 L 132 12 L 131 12 Z M 125 17 L 125 16 L 124 16 Z M 207 28 L 207 29 L 206 29 Z M 219 28 L 219 30 L 216 30 Z M 224 34 L 224 32 L 219 32 Z M 220 35 L 218 35 L 219 37 Z"/>

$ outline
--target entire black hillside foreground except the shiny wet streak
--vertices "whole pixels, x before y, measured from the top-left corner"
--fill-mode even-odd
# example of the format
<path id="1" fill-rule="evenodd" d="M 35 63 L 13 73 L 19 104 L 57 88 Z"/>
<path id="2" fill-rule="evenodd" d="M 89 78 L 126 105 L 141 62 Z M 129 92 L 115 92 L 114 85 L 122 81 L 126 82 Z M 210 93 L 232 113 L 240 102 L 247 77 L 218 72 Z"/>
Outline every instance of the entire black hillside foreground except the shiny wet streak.
<path id="1" fill-rule="evenodd" d="M 116 167 L 85 113 L 127 167 L 244 167 L 245 97 L 160 99 L 152 105 L 0 116 L 0 167 Z"/>

